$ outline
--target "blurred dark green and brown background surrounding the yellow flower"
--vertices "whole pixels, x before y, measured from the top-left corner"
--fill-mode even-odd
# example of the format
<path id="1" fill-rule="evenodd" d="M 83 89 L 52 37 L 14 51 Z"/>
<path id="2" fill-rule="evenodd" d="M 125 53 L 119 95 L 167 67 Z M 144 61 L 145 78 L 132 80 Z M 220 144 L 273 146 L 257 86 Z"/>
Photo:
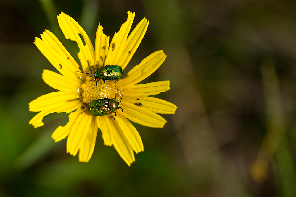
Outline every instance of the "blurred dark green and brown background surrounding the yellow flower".
<path id="1" fill-rule="evenodd" d="M 147 33 L 127 73 L 163 49 L 144 82 L 171 80 L 157 95 L 178 106 L 164 128 L 134 124 L 144 152 L 128 167 L 98 133 L 89 163 L 50 138 L 65 113 L 44 118 L 28 103 L 55 91 L 56 71 L 33 44 L 52 31 L 78 60 L 56 15 L 73 17 L 94 43 L 136 12 Z M 1 0 L 0 196 L 296 196 L 296 3 L 275 0 Z"/>

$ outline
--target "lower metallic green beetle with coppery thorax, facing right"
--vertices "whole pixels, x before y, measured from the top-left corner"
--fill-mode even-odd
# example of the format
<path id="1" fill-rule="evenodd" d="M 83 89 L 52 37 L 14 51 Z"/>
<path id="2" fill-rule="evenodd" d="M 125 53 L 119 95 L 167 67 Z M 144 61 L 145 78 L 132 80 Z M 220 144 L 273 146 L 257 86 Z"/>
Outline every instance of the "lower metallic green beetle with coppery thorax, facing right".
<path id="1" fill-rule="evenodd" d="M 122 96 L 123 96 L 123 91 L 122 91 Z M 121 99 L 122 99 L 122 96 L 121 96 Z M 115 110 L 121 108 L 120 107 L 121 99 L 120 99 L 119 103 L 116 100 L 108 99 L 108 98 L 92 101 L 89 104 L 91 115 L 101 116 L 101 115 L 110 114 L 110 117 L 111 117 L 111 114 L 115 113 L 115 116 L 116 116 Z M 122 109 L 122 111 L 123 111 L 123 109 Z"/>

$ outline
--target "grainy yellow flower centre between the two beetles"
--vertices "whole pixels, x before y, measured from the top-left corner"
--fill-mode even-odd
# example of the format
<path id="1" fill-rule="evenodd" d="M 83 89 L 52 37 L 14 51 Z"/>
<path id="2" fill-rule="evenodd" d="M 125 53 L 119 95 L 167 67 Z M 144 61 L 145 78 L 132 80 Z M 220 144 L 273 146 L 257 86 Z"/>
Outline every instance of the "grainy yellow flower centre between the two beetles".
<path id="1" fill-rule="evenodd" d="M 91 81 L 90 81 L 91 80 Z M 98 87 L 96 87 L 96 81 L 91 75 L 86 76 L 85 82 L 81 84 L 82 93 L 82 102 L 89 104 L 91 101 L 103 99 L 103 98 L 119 98 L 121 91 L 119 85 L 115 81 L 105 80 L 105 83 L 102 79 L 97 82 Z"/>

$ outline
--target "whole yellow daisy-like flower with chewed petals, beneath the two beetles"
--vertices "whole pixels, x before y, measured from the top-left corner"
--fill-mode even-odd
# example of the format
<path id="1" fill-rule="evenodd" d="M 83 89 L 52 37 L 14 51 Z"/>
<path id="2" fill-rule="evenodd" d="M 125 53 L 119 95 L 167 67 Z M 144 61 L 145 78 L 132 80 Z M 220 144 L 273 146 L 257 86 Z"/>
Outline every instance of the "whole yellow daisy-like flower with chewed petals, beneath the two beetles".
<path id="1" fill-rule="evenodd" d="M 128 35 L 135 13 L 128 12 L 128 19 L 114 34 L 110 46 L 109 36 L 98 26 L 95 48 L 83 28 L 70 16 L 61 12 L 57 16 L 59 26 L 66 39 L 75 41 L 79 47 L 78 58 L 82 72 L 94 73 L 105 65 L 126 67 L 143 39 L 149 21 L 142 19 Z M 79 34 L 82 35 L 84 43 Z M 139 65 L 117 81 L 99 80 L 94 76 L 79 73 L 79 65 L 65 49 L 62 43 L 50 31 L 45 30 L 34 44 L 52 63 L 60 74 L 43 70 L 42 79 L 46 84 L 59 91 L 52 92 L 29 103 L 29 110 L 39 112 L 29 122 L 34 128 L 42 126 L 42 119 L 50 113 L 66 112 L 69 122 L 59 126 L 52 138 L 55 142 L 67 138 L 67 153 L 75 156 L 79 150 L 79 161 L 88 162 L 94 151 L 98 128 L 106 146 L 113 145 L 120 157 L 130 166 L 135 161 L 133 152 L 144 150 L 141 137 L 131 121 L 154 128 L 163 127 L 166 120 L 156 113 L 173 114 L 176 105 L 162 99 L 148 97 L 170 89 L 169 81 L 137 84 L 151 75 L 165 60 L 163 51 L 156 51 L 147 56 Z M 79 72 L 78 72 L 79 71 Z M 123 95 L 124 93 L 124 95 Z M 93 116 L 89 103 L 103 98 L 116 98 L 121 109 L 112 114 Z M 129 119 L 129 120 L 128 120 Z"/>

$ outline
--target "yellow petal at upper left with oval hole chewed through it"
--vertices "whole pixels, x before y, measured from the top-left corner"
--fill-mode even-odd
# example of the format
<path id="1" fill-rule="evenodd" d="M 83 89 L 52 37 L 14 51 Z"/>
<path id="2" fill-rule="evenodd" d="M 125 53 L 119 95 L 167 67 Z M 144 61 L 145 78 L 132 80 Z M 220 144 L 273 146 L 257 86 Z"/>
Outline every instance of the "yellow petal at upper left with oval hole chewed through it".
<path id="1" fill-rule="evenodd" d="M 89 66 L 95 66 L 96 62 L 94 59 L 94 47 L 89 40 L 86 32 L 83 28 L 70 16 L 66 15 L 65 13 L 61 12 L 59 16 L 57 16 L 59 26 L 62 32 L 65 35 L 66 39 L 70 39 L 75 41 L 78 44 L 79 52 L 77 56 L 81 62 L 81 66 L 83 72 L 89 71 Z M 83 42 L 79 36 L 82 35 L 86 45 L 83 45 Z"/>

